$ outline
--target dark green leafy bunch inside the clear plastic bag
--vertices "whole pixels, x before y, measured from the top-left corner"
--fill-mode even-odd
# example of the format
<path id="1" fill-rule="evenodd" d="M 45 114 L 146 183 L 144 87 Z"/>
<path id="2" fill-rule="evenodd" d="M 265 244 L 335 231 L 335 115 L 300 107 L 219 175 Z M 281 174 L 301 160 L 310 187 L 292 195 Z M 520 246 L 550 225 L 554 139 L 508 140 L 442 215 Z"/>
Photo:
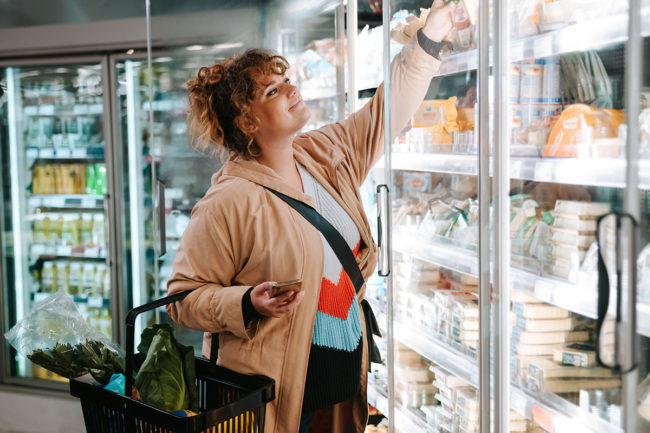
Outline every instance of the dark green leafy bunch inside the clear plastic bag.
<path id="1" fill-rule="evenodd" d="M 106 385 L 113 374 L 124 374 L 124 359 L 94 340 L 76 345 L 57 343 L 53 348 L 34 350 L 27 358 L 68 379 L 85 373 Z"/>

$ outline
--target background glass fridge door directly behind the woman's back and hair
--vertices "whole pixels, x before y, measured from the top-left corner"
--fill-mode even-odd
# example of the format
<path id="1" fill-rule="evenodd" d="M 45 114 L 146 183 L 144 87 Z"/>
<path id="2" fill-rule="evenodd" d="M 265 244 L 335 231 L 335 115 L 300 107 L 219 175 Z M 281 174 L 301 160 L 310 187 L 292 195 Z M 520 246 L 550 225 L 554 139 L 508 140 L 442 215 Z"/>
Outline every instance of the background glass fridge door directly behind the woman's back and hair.
<path id="1" fill-rule="evenodd" d="M 192 208 L 221 167 L 218 156 L 200 153 L 190 145 L 185 83 L 201 66 L 215 63 L 223 54 L 185 49 L 154 53 L 151 104 L 146 53 L 114 61 L 126 309 L 166 295 L 172 262 Z M 162 322 L 171 323 L 164 309 L 139 319 L 136 341 L 143 327 Z M 176 328 L 176 337 L 200 354 L 201 333 Z"/>

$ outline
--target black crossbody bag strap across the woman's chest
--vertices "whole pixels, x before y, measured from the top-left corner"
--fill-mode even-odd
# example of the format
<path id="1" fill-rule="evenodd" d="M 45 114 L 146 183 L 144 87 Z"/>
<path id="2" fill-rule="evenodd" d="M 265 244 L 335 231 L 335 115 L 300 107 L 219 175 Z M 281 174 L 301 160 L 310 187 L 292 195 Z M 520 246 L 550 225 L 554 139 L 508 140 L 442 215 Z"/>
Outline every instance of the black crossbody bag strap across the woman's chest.
<path id="1" fill-rule="evenodd" d="M 287 202 L 289 206 L 294 208 L 300 215 L 302 215 L 307 221 L 312 223 L 325 237 L 327 243 L 330 244 L 334 254 L 338 257 L 339 261 L 343 265 L 343 269 L 347 272 L 352 284 L 354 284 L 354 289 L 357 293 L 361 290 L 364 284 L 363 275 L 361 275 L 361 269 L 357 264 L 354 254 L 350 251 L 348 243 L 343 239 L 341 233 L 339 233 L 332 224 L 330 224 L 316 209 L 313 207 L 298 201 L 294 198 L 289 197 L 288 195 L 282 194 L 274 189 L 267 188 L 273 194 L 280 197 L 282 200 Z"/>

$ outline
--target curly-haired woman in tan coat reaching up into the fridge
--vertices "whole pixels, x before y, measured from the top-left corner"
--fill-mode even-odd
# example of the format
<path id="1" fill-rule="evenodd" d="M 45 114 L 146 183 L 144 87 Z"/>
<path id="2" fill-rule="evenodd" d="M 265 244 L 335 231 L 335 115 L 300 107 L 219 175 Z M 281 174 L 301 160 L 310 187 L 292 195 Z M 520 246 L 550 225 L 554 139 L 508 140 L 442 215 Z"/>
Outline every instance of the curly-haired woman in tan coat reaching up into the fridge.
<path id="1" fill-rule="evenodd" d="M 417 38 L 391 64 L 392 131 L 399 132 L 438 69 L 453 3 L 436 0 Z M 425 51 L 426 50 L 426 51 Z M 376 246 L 359 187 L 384 149 L 383 85 L 346 120 L 296 136 L 310 112 L 280 56 L 249 50 L 190 81 L 190 127 L 230 160 L 192 211 L 168 293 L 177 323 L 219 333 L 218 363 L 276 381 L 265 432 L 364 431 L 367 347 L 358 294 L 320 232 L 266 188 L 316 208 L 343 235 L 363 277 Z M 301 291 L 270 296 L 273 281 Z"/>

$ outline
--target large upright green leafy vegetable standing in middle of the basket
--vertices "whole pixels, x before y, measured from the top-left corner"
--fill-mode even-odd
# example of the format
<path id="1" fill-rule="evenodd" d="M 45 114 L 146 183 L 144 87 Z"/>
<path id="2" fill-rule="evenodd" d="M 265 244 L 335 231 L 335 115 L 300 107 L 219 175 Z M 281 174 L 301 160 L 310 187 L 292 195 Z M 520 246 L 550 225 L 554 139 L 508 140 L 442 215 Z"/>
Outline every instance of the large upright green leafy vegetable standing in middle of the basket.
<path id="1" fill-rule="evenodd" d="M 135 377 L 135 387 L 145 403 L 159 409 L 198 412 L 194 349 L 180 344 L 173 334 L 168 324 L 142 332 L 138 350 L 146 358 Z"/>

